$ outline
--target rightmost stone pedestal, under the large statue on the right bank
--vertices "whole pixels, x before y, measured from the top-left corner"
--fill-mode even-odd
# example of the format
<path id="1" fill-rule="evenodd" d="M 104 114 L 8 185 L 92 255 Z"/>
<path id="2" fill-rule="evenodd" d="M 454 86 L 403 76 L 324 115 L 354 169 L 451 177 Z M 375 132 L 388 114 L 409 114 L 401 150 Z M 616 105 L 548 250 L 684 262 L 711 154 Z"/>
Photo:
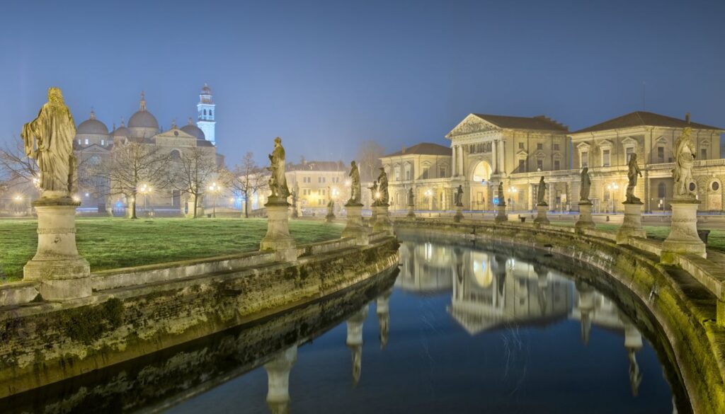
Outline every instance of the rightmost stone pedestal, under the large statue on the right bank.
<path id="1" fill-rule="evenodd" d="M 672 223 L 670 234 L 662 243 L 662 257 L 660 261 L 665 264 L 674 264 L 677 253 L 693 253 L 705 257 L 705 243 L 697 236 L 697 206 L 696 199 L 674 199 L 672 206 Z"/>

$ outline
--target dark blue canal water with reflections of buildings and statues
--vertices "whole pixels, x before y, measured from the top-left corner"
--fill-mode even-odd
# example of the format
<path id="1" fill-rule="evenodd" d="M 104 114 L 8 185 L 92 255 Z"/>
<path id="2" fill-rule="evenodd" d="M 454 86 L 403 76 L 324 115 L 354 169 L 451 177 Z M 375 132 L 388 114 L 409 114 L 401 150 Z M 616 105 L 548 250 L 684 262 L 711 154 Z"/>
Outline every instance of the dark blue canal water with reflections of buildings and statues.
<path id="1" fill-rule="evenodd" d="M 689 412 L 645 307 L 601 273 L 514 247 L 402 238 L 399 273 L 26 393 L 12 412 Z"/>

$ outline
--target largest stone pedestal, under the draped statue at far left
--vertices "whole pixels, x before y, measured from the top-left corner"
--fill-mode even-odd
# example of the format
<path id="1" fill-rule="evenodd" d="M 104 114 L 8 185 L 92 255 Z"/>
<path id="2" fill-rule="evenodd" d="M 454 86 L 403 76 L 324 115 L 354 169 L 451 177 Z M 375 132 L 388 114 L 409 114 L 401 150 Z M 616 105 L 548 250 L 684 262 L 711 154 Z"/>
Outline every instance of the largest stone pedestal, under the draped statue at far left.
<path id="1" fill-rule="evenodd" d="M 38 250 L 23 269 L 23 280 L 40 281 L 43 299 L 91 296 L 91 267 L 75 247 L 75 207 L 70 197 L 41 198 L 38 212 Z"/>

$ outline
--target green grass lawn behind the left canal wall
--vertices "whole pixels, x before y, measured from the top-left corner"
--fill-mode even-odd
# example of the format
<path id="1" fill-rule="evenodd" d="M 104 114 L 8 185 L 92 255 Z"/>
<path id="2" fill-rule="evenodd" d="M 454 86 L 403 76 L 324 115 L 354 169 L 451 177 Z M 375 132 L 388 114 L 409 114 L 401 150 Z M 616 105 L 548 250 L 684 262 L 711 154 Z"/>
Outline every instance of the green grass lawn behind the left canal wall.
<path id="1" fill-rule="evenodd" d="M 78 252 L 96 271 L 257 250 L 267 220 L 78 218 L 76 227 Z M 289 222 L 297 244 L 339 238 L 343 227 L 311 220 Z M 36 253 L 36 228 L 36 220 L 0 220 L 0 269 L 7 280 L 20 280 L 22 266 Z"/>

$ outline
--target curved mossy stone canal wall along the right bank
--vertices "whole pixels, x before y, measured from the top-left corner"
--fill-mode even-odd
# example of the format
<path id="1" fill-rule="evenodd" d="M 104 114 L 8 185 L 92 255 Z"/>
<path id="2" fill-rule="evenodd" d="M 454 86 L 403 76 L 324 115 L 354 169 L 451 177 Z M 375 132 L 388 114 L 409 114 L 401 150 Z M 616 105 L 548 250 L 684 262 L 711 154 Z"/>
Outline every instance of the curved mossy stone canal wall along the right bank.
<path id="1" fill-rule="evenodd" d="M 396 231 L 448 234 L 477 244 L 516 244 L 540 254 L 557 254 L 602 270 L 646 305 L 671 348 L 668 359 L 695 413 L 725 413 L 725 328 L 718 324 L 722 302 L 718 267 L 689 255 L 679 265 L 660 264 L 660 242 L 631 238 L 616 244 L 615 233 L 529 223 L 452 223 L 445 219 L 394 219 Z M 634 240 L 636 239 L 636 240 Z M 708 252 L 708 255 L 711 253 Z M 712 256 L 718 257 L 713 252 Z M 704 262 L 703 262 L 704 261 Z M 687 269 L 692 267 L 693 273 Z M 719 266 L 720 272 L 724 266 Z M 699 273 L 699 275 L 697 274 Z M 697 278 L 710 280 L 705 286 Z M 720 311 L 721 311 L 720 307 Z"/>

